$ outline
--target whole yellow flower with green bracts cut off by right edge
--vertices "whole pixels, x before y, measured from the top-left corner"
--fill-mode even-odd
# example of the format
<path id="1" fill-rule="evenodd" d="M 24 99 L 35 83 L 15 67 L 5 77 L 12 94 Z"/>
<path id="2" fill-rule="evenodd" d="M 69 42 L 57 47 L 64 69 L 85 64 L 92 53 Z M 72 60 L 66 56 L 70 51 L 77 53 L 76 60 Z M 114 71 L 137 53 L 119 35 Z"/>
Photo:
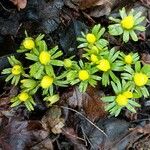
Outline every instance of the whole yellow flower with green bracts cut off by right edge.
<path id="1" fill-rule="evenodd" d="M 144 65 L 141 67 L 139 61 L 135 63 L 135 70 L 131 66 L 125 66 L 127 73 L 122 73 L 122 78 L 129 81 L 132 90 L 135 90 L 140 96 L 148 97 L 149 92 L 146 85 L 150 85 L 150 65 Z"/>

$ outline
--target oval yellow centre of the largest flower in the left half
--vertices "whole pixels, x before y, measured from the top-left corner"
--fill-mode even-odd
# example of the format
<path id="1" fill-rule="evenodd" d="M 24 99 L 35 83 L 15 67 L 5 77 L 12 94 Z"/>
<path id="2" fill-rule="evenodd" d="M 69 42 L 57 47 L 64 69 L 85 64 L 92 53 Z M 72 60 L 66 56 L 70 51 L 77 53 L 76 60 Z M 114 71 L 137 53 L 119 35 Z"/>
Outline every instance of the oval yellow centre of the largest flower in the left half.
<path id="1" fill-rule="evenodd" d="M 42 51 L 39 56 L 41 64 L 47 65 L 51 60 L 51 55 L 47 51 Z"/>

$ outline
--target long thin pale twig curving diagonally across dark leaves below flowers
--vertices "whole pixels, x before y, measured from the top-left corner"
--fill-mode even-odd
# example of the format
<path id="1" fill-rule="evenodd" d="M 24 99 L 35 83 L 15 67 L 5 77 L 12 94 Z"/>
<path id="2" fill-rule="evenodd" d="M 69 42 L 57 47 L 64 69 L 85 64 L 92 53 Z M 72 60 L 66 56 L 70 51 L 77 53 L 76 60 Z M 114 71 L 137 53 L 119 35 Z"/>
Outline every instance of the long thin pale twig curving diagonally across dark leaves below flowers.
<path id="1" fill-rule="evenodd" d="M 71 111 L 76 112 L 77 114 L 81 115 L 85 120 L 87 120 L 90 124 L 92 124 L 96 129 L 98 129 L 101 133 L 103 133 L 106 137 L 108 137 L 108 136 L 106 135 L 106 133 L 105 133 L 102 129 L 100 129 L 97 125 L 95 125 L 91 120 L 89 120 L 88 118 L 86 118 L 86 117 L 85 117 L 84 115 L 82 115 L 80 112 L 78 112 L 78 111 L 76 111 L 76 110 L 74 110 L 74 109 L 72 109 L 72 108 L 69 108 L 69 107 L 65 107 L 65 106 L 61 106 L 61 107 L 64 108 L 64 109 L 71 110 Z"/>

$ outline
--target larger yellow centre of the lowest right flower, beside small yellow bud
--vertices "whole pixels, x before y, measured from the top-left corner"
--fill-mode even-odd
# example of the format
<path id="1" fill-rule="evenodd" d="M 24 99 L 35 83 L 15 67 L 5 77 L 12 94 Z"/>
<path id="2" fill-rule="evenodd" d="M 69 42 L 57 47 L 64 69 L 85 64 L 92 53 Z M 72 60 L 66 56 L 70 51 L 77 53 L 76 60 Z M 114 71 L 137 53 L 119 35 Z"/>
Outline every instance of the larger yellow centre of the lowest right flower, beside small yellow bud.
<path id="1" fill-rule="evenodd" d="M 119 94 L 116 98 L 116 103 L 119 106 L 124 107 L 128 104 L 128 98 L 124 96 L 123 94 Z"/>

